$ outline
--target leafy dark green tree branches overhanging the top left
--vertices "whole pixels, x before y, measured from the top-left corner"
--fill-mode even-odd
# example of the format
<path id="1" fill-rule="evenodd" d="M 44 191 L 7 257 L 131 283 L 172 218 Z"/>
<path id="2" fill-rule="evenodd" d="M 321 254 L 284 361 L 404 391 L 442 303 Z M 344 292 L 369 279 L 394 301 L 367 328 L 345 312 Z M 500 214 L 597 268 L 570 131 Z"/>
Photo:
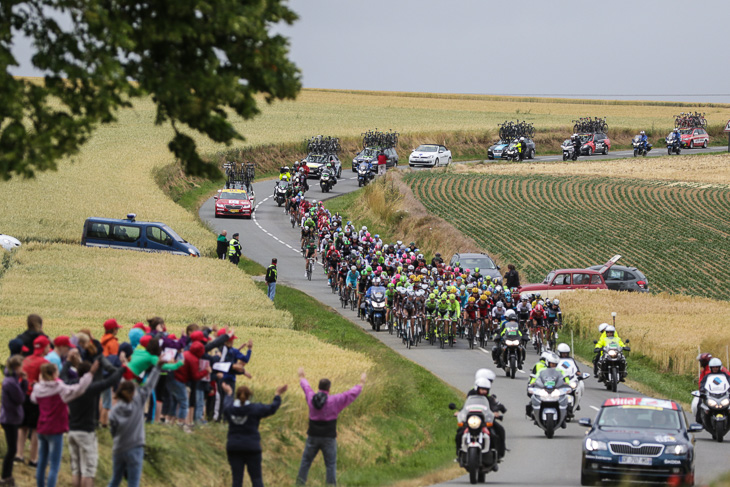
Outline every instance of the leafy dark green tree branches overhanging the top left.
<path id="1" fill-rule="evenodd" d="M 285 0 L 2 0 L 0 177 L 33 177 L 77 153 L 100 123 L 150 96 L 156 124 L 171 123 L 170 150 L 188 174 L 210 176 L 183 126 L 216 142 L 244 140 L 228 121 L 259 113 L 301 89 L 288 42 Z M 14 35 L 15 31 L 15 35 Z M 14 78 L 17 32 L 35 47 L 44 83 Z"/>

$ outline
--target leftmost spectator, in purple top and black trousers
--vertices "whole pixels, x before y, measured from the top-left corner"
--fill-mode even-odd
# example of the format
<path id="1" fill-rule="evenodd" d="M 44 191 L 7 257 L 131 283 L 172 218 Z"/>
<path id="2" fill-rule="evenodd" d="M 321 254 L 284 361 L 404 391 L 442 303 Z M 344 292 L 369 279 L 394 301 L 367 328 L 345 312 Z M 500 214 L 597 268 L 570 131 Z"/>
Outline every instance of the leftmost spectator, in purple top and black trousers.
<path id="1" fill-rule="evenodd" d="M 13 355 L 8 359 L 5 368 L 5 379 L 2 387 L 2 410 L 0 425 L 5 432 L 5 443 L 8 446 L 3 459 L 3 472 L 0 485 L 14 486 L 13 461 L 18 451 L 18 429 L 23 424 L 23 403 L 28 382 L 23 372 L 23 356 Z"/>

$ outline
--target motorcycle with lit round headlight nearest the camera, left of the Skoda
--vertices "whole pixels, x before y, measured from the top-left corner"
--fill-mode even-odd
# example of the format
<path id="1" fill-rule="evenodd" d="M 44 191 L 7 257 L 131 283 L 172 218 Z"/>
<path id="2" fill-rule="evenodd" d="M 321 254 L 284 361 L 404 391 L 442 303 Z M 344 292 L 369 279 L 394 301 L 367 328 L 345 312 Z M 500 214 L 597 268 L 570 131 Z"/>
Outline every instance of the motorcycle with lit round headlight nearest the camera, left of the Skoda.
<path id="1" fill-rule="evenodd" d="M 449 409 L 456 409 L 454 403 Z M 497 451 L 492 447 L 489 428 L 494 413 L 484 396 L 469 396 L 457 415 L 459 427 L 464 428 L 459 448 L 459 466 L 469 472 L 469 482 L 484 482 L 487 473 L 497 470 Z"/>

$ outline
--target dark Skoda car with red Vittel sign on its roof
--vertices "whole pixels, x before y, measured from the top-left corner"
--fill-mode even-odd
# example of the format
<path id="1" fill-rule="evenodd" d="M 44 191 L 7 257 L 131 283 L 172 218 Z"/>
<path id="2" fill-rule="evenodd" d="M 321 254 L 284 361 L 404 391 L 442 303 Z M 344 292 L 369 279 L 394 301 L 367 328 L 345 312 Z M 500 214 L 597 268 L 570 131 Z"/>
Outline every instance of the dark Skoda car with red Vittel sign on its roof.
<path id="1" fill-rule="evenodd" d="M 604 401 L 583 440 L 581 485 L 603 479 L 694 484 L 694 438 L 699 424 L 687 424 L 674 401 L 615 397 Z"/>

